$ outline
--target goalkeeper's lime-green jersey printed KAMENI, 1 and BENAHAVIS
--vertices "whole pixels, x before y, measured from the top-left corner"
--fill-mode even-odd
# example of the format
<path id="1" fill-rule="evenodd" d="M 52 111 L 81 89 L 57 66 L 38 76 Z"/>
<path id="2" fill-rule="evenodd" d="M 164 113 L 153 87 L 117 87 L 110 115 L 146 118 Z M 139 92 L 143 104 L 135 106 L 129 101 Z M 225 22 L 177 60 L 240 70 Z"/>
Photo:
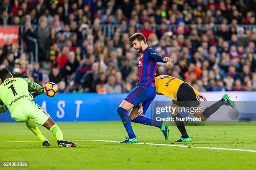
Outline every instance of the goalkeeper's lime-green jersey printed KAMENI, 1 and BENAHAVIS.
<path id="1" fill-rule="evenodd" d="M 13 111 L 23 100 L 33 101 L 33 96 L 28 92 L 28 87 L 36 91 L 39 95 L 42 93 L 43 87 L 28 78 L 8 78 L 0 85 L 0 100 L 4 105 L 1 105 L 0 112 L 3 113 L 9 109 Z M 7 108 L 6 108 L 7 107 Z"/>

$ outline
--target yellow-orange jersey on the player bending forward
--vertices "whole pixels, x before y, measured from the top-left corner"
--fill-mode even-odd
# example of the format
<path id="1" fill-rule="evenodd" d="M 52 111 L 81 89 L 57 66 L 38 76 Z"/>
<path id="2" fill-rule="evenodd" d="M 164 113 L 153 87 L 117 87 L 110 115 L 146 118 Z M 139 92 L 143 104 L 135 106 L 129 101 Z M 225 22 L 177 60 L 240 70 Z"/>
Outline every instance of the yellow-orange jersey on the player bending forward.
<path id="1" fill-rule="evenodd" d="M 159 75 L 155 77 L 156 93 L 166 95 L 172 98 L 174 101 L 177 101 L 177 91 L 179 90 L 179 86 L 182 83 L 184 83 L 184 81 L 176 77 L 172 77 L 169 75 Z M 194 87 L 192 88 L 195 92 L 195 95 L 198 96 L 200 92 L 195 90 Z"/>

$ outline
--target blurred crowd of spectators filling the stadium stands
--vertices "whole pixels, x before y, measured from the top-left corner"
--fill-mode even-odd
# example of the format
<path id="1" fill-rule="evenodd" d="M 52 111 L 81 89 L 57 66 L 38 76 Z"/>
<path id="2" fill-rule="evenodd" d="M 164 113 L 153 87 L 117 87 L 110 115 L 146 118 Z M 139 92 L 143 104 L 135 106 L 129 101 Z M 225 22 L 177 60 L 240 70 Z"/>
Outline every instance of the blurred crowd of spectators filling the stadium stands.
<path id="1" fill-rule="evenodd" d="M 0 25 L 24 25 L 25 49 L 21 53 L 6 39 L 0 67 L 43 86 L 55 82 L 60 92 L 131 91 L 140 54 L 127 40 L 135 32 L 174 60 L 159 63 L 157 75 L 180 78 L 199 91 L 256 90 L 256 27 L 239 26 L 255 26 L 255 0 L 2 0 L 0 13 Z M 108 38 L 101 24 L 119 26 Z M 33 65 L 26 55 L 35 47 L 29 36 L 38 40 Z M 44 61 L 49 75 L 42 73 Z"/>

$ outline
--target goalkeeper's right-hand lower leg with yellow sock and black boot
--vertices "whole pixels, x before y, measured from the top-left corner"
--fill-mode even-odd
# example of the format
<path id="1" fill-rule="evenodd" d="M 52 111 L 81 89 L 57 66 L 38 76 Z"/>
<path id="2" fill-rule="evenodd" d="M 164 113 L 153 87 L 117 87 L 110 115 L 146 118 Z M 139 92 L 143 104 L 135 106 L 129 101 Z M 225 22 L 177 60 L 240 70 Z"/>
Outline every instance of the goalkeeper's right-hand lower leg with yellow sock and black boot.
<path id="1" fill-rule="evenodd" d="M 50 130 L 51 133 L 53 133 L 54 137 L 57 139 L 57 143 L 60 147 L 75 147 L 76 144 L 69 142 L 67 140 L 63 140 L 63 133 L 58 127 L 58 125 L 55 124 L 55 122 L 51 119 L 51 117 L 48 118 L 48 120 L 43 125 L 45 128 Z"/>

